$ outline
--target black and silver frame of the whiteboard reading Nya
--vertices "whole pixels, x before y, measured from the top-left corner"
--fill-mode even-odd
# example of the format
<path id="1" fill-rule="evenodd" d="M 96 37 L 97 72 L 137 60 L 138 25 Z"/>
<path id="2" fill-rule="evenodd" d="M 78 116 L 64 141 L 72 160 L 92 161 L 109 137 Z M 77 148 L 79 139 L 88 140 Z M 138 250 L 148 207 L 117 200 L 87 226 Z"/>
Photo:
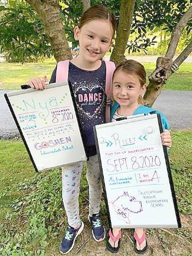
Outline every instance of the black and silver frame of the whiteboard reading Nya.
<path id="1" fill-rule="evenodd" d="M 76 116 L 76 120 L 78 122 L 79 131 L 81 133 L 82 143 L 84 145 L 84 151 L 85 151 L 85 142 L 84 142 L 84 139 L 83 139 L 83 136 L 82 136 L 82 127 L 81 127 L 81 123 L 80 123 L 80 120 L 79 120 L 78 108 L 76 106 L 76 101 L 75 101 L 75 97 L 74 97 L 74 94 L 73 94 L 71 82 L 67 81 L 67 82 L 56 82 L 56 83 L 53 83 L 53 84 L 49 84 L 49 85 L 47 85 L 47 89 L 55 88 L 55 87 L 60 87 L 60 86 L 63 86 L 63 85 L 66 85 L 66 86 L 68 85 L 69 86 L 69 90 L 71 92 L 71 98 L 72 98 L 72 102 L 73 102 L 73 107 L 75 108 L 75 116 Z M 11 96 L 25 94 L 25 93 L 30 93 L 30 92 L 39 91 L 39 90 L 31 88 L 29 85 L 26 85 L 26 87 L 24 87 L 24 85 L 21 85 L 21 88 L 22 87 L 25 88 L 25 89 L 21 89 L 21 90 L 18 90 L 18 91 L 8 92 L 8 94 L 4 94 L 4 97 L 5 97 L 5 100 L 7 101 L 8 107 L 9 107 L 9 109 L 11 111 L 12 117 L 14 118 L 15 124 L 17 125 L 18 131 L 20 132 L 21 138 L 22 138 L 22 140 L 24 142 L 25 148 L 27 149 L 28 155 L 30 156 L 31 162 L 33 164 L 33 167 L 36 170 L 36 172 L 41 172 L 40 170 L 38 170 L 37 165 L 34 162 L 33 156 L 31 155 L 30 149 L 28 148 L 27 141 L 25 140 L 25 137 L 24 137 L 23 132 L 21 130 L 20 124 L 18 123 L 17 117 L 16 117 L 16 115 L 14 113 L 14 110 L 12 108 L 12 105 L 11 105 L 11 103 L 9 101 L 9 97 L 11 97 Z M 86 151 L 85 151 L 85 157 L 88 159 Z M 86 161 L 86 159 L 82 160 L 82 161 Z M 76 163 L 76 162 L 73 162 L 73 163 Z M 73 164 L 73 163 L 71 163 L 71 164 Z M 69 164 L 66 164 L 66 165 L 69 165 Z M 61 166 L 64 166 L 64 165 L 57 165 L 57 166 L 52 167 L 52 168 L 57 168 L 57 167 L 61 167 Z M 49 169 L 52 169 L 52 168 L 49 168 Z M 49 169 L 43 169 L 42 171 L 47 171 Z"/>

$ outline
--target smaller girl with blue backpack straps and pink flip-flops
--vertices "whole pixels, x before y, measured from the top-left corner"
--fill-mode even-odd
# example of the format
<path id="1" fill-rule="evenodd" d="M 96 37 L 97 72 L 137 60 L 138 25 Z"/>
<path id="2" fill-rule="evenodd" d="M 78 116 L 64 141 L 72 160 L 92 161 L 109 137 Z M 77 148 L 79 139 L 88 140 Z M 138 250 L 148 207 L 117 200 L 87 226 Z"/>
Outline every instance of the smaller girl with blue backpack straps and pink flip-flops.
<path id="1" fill-rule="evenodd" d="M 142 94 L 146 87 L 146 72 L 143 65 L 135 60 L 126 60 L 117 66 L 113 73 L 113 98 L 116 101 L 111 110 L 111 121 L 124 116 L 136 114 L 159 113 L 158 111 L 145 107 L 143 105 Z M 169 124 L 166 117 L 161 115 L 162 127 L 164 132 L 161 133 L 162 144 L 171 148 L 171 135 Z M 109 231 L 107 248 L 112 252 L 119 251 L 121 229 L 113 228 Z M 136 228 L 133 241 L 135 251 L 143 254 L 148 249 L 145 231 L 142 228 Z"/>

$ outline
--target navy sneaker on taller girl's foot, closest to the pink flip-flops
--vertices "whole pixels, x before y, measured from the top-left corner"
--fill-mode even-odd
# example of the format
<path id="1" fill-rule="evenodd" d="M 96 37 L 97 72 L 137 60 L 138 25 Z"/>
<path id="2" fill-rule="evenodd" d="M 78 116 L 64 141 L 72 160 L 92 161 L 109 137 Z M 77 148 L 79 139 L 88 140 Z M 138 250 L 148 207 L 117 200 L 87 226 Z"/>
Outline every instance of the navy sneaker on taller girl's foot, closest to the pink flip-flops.
<path id="1" fill-rule="evenodd" d="M 101 223 L 99 213 L 91 216 L 88 215 L 88 220 L 91 223 L 92 236 L 97 242 L 101 242 L 105 239 L 105 228 Z"/>

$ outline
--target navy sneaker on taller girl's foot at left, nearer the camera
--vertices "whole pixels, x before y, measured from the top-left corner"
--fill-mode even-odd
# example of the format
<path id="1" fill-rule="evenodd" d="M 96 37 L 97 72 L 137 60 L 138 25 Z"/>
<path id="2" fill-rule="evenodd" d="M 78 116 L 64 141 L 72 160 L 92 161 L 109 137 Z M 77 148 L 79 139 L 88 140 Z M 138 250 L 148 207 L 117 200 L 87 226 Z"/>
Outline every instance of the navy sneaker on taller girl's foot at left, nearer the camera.
<path id="1" fill-rule="evenodd" d="M 68 252 L 70 252 L 75 244 L 75 239 L 83 230 L 84 222 L 81 222 L 81 225 L 78 229 L 74 229 L 71 226 L 68 226 L 68 228 L 66 229 L 65 236 L 63 237 L 63 241 L 60 244 L 60 253 L 67 254 Z"/>

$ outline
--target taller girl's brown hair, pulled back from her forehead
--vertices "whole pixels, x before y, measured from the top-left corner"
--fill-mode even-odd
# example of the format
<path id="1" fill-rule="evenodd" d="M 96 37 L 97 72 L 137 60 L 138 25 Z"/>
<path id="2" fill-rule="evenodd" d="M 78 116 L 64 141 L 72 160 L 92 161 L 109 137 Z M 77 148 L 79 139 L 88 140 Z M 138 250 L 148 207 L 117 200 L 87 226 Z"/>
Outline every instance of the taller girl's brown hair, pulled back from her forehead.
<path id="1" fill-rule="evenodd" d="M 114 19 L 114 15 L 109 11 L 107 7 L 104 5 L 95 5 L 87 9 L 82 15 L 78 27 L 81 28 L 83 25 L 89 23 L 93 20 L 108 20 L 111 23 L 111 27 L 113 30 L 113 36 L 116 32 L 116 21 Z"/>

